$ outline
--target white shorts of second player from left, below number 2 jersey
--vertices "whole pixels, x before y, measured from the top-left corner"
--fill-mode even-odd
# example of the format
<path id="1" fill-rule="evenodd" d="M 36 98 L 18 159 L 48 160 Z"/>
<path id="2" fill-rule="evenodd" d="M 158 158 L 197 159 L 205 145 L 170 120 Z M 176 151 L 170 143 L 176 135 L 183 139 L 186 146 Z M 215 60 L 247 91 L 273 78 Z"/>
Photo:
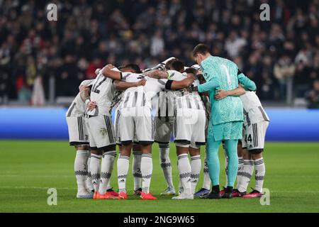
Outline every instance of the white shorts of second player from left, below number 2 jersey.
<path id="1" fill-rule="evenodd" d="M 106 149 L 116 145 L 115 130 L 110 115 L 86 118 L 91 150 Z"/>

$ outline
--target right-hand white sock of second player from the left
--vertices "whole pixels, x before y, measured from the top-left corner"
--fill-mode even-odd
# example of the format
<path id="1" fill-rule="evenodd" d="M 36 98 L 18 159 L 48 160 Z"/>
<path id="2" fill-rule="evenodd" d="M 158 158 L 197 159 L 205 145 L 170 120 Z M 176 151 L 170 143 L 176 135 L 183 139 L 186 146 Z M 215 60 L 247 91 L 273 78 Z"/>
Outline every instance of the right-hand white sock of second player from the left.
<path id="1" fill-rule="evenodd" d="M 110 181 L 113 163 L 116 159 L 116 150 L 108 151 L 103 153 L 102 164 L 101 164 L 101 181 L 99 186 L 99 193 L 105 194 L 108 189 L 108 182 Z"/>

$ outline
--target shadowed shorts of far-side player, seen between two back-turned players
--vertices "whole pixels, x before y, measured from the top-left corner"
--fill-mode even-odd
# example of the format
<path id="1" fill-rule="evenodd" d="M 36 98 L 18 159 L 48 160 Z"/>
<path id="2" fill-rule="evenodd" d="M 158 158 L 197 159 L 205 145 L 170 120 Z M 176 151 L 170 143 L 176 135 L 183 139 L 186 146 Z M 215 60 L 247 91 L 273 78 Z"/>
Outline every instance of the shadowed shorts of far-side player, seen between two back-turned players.
<path id="1" fill-rule="evenodd" d="M 171 133 L 173 132 L 174 121 L 167 121 L 165 117 L 155 116 L 155 142 L 169 143 L 171 141 Z"/>

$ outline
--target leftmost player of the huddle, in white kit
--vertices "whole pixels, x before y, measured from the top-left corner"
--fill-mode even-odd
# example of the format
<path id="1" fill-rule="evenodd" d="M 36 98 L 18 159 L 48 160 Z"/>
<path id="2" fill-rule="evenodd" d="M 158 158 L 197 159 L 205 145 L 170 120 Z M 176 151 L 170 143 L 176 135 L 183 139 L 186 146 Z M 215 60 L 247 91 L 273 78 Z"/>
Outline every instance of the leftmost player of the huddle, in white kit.
<path id="1" fill-rule="evenodd" d="M 84 123 L 85 103 L 81 99 L 82 92 L 89 91 L 89 84 L 93 79 L 84 80 L 79 86 L 79 94 L 72 101 L 67 110 L 67 126 L 69 131 L 69 145 L 74 145 L 77 155 L 74 160 L 74 173 L 77 179 L 77 198 L 92 198 L 90 184 L 86 185 L 88 175 L 89 135 Z"/>

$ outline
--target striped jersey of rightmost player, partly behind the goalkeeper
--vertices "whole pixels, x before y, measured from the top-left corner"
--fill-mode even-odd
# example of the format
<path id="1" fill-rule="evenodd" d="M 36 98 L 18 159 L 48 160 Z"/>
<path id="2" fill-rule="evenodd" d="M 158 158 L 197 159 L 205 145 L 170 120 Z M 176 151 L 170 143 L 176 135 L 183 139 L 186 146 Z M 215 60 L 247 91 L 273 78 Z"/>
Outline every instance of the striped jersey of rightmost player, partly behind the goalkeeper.
<path id="1" fill-rule="evenodd" d="M 261 121 L 269 121 L 269 117 L 264 108 L 262 108 L 262 103 L 255 92 L 246 91 L 245 94 L 240 96 L 240 99 L 242 99 L 242 106 L 244 107 L 245 126 Z"/>

